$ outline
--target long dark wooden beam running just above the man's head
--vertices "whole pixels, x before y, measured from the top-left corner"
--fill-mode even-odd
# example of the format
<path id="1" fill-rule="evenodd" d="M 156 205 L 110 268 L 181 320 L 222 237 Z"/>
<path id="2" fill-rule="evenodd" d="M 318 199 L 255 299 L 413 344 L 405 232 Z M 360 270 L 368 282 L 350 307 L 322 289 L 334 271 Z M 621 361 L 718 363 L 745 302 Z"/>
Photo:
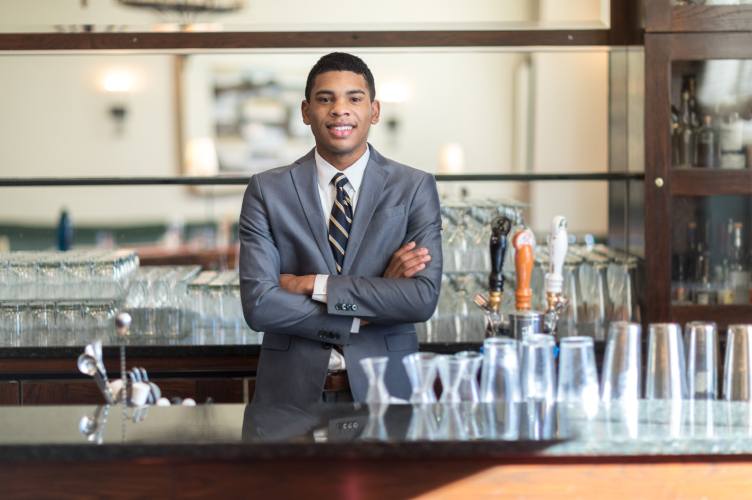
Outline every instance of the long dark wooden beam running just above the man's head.
<path id="1" fill-rule="evenodd" d="M 5 33 L 0 51 L 605 46 L 609 30 Z"/>

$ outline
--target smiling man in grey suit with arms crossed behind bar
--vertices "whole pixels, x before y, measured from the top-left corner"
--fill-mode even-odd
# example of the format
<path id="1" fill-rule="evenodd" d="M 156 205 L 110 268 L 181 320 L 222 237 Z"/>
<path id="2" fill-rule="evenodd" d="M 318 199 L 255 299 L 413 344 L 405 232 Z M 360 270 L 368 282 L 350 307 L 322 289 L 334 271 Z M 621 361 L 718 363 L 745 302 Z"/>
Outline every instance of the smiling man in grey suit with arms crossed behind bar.
<path id="1" fill-rule="evenodd" d="M 402 358 L 413 323 L 436 309 L 441 216 L 432 175 L 367 143 L 379 121 L 373 75 L 350 54 L 322 57 L 302 103 L 316 147 L 251 178 L 240 213 L 240 286 L 248 324 L 263 331 L 253 403 L 348 400 L 323 393 L 346 369 L 364 401 L 360 360 L 389 358 L 385 382 L 408 399 Z M 350 399 L 351 400 L 351 399 Z"/>

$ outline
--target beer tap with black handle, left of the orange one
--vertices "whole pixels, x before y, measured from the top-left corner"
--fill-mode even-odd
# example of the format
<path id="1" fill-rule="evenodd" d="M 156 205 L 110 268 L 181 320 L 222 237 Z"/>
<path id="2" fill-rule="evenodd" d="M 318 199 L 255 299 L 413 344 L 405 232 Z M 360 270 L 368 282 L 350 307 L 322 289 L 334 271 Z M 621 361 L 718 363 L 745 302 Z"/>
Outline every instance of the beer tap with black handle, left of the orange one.
<path id="1" fill-rule="evenodd" d="M 486 337 L 503 333 L 503 321 L 499 313 L 501 295 L 504 293 L 504 256 L 507 251 L 507 236 L 512 221 L 507 217 L 496 217 L 491 222 L 491 274 L 488 277 L 488 298 L 483 294 L 475 296 L 475 304 L 486 313 Z"/>

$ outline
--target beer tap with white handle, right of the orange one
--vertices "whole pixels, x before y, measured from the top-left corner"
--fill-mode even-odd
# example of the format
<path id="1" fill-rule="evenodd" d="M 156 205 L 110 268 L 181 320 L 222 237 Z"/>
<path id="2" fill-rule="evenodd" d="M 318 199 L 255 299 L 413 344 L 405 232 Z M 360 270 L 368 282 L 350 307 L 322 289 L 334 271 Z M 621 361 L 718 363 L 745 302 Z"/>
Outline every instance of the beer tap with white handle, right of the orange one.
<path id="1" fill-rule="evenodd" d="M 543 331 L 551 335 L 556 335 L 556 324 L 569 304 L 569 299 L 562 293 L 564 284 L 562 271 L 569 248 L 568 240 L 567 219 L 557 215 L 551 221 L 551 237 L 548 240 L 548 274 L 546 275 L 548 308 L 543 315 Z"/>

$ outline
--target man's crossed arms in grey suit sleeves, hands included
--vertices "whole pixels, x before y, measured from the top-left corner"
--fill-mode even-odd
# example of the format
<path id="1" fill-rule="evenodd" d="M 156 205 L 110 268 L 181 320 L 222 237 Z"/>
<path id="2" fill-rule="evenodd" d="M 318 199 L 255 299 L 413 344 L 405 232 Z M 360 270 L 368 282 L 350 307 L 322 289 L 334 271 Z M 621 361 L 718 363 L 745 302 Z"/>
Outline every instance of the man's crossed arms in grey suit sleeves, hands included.
<path id="1" fill-rule="evenodd" d="M 427 175 L 409 207 L 405 244 L 380 278 L 330 276 L 328 303 L 311 298 L 315 275 L 280 275 L 280 257 L 269 226 L 257 176 L 251 179 L 240 216 L 240 279 L 243 311 L 257 331 L 320 340 L 339 334 L 347 344 L 353 317 L 363 322 L 400 324 L 433 314 L 441 283 L 441 217 L 436 183 Z M 431 265 L 428 265 L 428 264 Z M 335 311 L 334 300 L 360 304 L 357 312 Z"/>

